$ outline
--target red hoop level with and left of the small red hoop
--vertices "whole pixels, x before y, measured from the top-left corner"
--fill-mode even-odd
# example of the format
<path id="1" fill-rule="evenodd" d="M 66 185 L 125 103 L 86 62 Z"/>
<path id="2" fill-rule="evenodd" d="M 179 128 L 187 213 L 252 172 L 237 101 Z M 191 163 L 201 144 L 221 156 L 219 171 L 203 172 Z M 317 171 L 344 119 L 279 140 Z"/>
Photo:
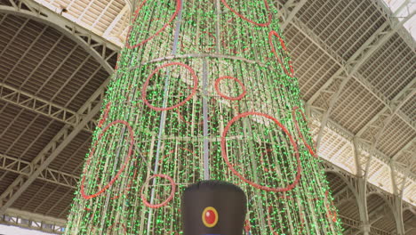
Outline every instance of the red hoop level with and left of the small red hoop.
<path id="1" fill-rule="evenodd" d="M 151 105 L 148 100 L 146 99 L 146 95 L 147 95 L 147 89 L 148 89 L 148 83 L 150 81 L 150 78 L 153 77 L 160 69 L 164 69 L 166 67 L 172 66 L 172 65 L 179 65 L 184 67 L 185 69 L 188 69 L 188 71 L 190 72 L 191 76 L 194 78 L 194 87 L 192 88 L 192 93 L 190 93 L 188 95 L 187 98 L 185 98 L 185 100 L 180 101 L 178 104 L 173 105 L 171 107 L 167 107 L 167 108 L 159 108 L 159 107 L 155 107 L 153 105 Z M 189 101 L 192 96 L 195 95 L 196 93 L 196 89 L 198 88 L 198 77 L 196 77 L 195 71 L 194 69 L 190 68 L 188 65 L 181 63 L 181 62 L 171 62 L 171 63 L 166 63 L 160 67 L 157 67 L 155 70 L 153 70 L 153 72 L 148 76 L 148 79 L 146 79 L 146 82 L 143 85 L 143 88 L 141 89 L 141 99 L 144 101 L 144 103 L 146 103 L 146 105 L 148 105 L 148 108 L 150 109 L 154 109 L 156 111 L 166 111 L 166 110 L 171 110 L 171 109 L 176 109 L 182 105 L 184 105 L 187 101 Z"/>

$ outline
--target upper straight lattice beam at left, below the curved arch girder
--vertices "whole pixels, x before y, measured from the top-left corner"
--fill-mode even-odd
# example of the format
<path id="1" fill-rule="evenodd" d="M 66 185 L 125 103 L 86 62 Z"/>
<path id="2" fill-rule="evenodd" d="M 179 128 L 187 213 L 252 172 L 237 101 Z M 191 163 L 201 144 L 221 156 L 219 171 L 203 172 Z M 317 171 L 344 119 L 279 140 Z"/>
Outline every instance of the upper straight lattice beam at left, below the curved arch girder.
<path id="1" fill-rule="evenodd" d="M 23 92 L 2 82 L 0 82 L 0 99 L 71 126 L 77 126 L 83 118 L 83 115 L 76 111 L 46 101 L 31 93 Z M 94 128 L 94 121 L 89 121 L 84 126 L 84 131 L 92 133 Z"/>

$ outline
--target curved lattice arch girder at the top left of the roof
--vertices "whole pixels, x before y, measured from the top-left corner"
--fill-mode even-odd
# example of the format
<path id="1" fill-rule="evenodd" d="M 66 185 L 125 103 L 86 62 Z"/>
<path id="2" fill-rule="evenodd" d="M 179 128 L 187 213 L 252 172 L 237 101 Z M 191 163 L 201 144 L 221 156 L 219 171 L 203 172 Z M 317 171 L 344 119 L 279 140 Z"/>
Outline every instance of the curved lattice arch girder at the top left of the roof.
<path id="1" fill-rule="evenodd" d="M 112 58 L 116 52 L 120 51 L 118 45 L 115 45 L 104 39 L 102 36 L 94 34 L 91 30 L 83 28 L 75 22 L 62 17 L 59 13 L 53 12 L 44 5 L 38 4 L 34 0 L 18 0 L 16 6 L 0 4 L 0 12 L 20 15 L 52 26 L 83 47 L 87 53 L 90 53 L 95 60 L 100 62 L 101 66 L 106 69 L 108 74 L 114 72 L 113 67 L 108 63 L 108 60 Z M 112 53 L 108 53 L 109 55 L 107 55 L 107 51 Z"/>

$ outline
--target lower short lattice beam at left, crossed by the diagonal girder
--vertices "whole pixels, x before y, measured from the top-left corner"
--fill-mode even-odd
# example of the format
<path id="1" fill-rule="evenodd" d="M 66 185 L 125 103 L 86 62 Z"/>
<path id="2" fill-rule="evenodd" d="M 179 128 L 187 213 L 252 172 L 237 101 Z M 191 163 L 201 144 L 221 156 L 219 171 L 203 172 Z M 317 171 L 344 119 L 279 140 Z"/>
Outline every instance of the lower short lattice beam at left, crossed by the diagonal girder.
<path id="1" fill-rule="evenodd" d="M 0 154 L 0 169 L 16 174 L 23 174 L 28 177 L 33 174 L 36 166 L 33 166 L 30 162 L 20 158 L 13 158 Z M 70 189 L 76 189 L 76 183 L 79 181 L 79 176 L 46 167 L 44 171 L 39 174 L 38 179 L 65 186 Z"/>

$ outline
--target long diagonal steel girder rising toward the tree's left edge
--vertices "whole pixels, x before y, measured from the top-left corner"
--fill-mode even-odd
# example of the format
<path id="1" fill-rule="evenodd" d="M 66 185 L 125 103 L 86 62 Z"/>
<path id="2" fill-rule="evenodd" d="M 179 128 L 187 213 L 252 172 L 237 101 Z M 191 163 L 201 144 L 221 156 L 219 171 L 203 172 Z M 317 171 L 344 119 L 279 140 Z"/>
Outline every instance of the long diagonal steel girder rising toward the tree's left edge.
<path id="1" fill-rule="evenodd" d="M 13 202 L 28 189 L 28 186 L 36 180 L 36 178 L 44 172 L 47 166 L 56 158 L 62 150 L 66 148 L 84 126 L 92 119 L 100 110 L 101 102 L 104 97 L 104 88 L 107 86 L 109 78 L 100 86 L 100 88 L 92 94 L 92 97 L 77 112 L 83 118 L 75 127 L 66 125 L 58 134 L 49 142 L 36 158 L 31 161 L 32 166 L 36 166 L 33 173 L 28 177 L 20 174 L 18 178 L 4 190 L 0 195 L 0 215 L 12 206 Z"/>

